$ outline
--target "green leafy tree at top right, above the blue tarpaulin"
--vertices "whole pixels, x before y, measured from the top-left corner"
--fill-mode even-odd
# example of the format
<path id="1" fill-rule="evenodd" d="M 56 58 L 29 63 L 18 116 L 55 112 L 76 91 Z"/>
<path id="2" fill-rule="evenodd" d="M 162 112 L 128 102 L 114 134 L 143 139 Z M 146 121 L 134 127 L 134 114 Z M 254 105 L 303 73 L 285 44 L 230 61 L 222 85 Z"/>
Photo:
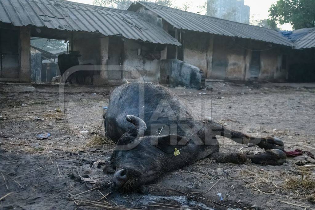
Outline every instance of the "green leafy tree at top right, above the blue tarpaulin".
<path id="1" fill-rule="evenodd" d="M 294 29 L 315 27 L 315 0 L 278 0 L 269 9 L 276 23 L 290 23 Z"/>

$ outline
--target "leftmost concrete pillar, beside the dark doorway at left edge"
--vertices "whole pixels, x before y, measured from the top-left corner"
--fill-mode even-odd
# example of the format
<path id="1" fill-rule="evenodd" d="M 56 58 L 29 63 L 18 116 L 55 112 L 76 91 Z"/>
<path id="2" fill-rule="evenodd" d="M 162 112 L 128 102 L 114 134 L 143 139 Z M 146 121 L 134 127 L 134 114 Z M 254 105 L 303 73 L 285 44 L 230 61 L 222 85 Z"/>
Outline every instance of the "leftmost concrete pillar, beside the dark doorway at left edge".
<path id="1" fill-rule="evenodd" d="M 20 74 L 22 82 L 31 82 L 31 28 L 20 27 Z"/>

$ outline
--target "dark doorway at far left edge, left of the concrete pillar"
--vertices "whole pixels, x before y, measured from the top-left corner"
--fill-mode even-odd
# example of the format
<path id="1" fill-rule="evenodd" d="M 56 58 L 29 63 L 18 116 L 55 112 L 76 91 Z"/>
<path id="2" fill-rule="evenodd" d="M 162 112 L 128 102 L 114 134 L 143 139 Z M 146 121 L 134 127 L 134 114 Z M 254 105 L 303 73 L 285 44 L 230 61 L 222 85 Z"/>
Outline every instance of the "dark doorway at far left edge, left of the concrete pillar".
<path id="1" fill-rule="evenodd" d="M 0 29 L 0 77 L 19 77 L 19 31 Z"/>

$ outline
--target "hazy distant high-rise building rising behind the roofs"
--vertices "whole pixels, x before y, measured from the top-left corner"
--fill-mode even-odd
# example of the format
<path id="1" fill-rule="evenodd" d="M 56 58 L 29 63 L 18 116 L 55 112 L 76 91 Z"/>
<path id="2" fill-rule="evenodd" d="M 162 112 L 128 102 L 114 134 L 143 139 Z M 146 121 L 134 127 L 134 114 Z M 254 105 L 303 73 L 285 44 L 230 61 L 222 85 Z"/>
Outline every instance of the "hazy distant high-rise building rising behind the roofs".
<path id="1" fill-rule="evenodd" d="M 244 0 L 207 0 L 207 15 L 249 24 L 250 7 Z"/>

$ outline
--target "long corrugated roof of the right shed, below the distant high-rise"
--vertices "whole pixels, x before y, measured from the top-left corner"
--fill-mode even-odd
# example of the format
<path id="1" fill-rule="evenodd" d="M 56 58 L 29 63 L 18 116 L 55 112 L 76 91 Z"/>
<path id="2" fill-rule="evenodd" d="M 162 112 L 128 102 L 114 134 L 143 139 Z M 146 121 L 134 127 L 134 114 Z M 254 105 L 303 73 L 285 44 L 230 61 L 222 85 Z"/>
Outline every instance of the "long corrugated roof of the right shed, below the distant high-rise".
<path id="1" fill-rule="evenodd" d="M 283 37 L 276 30 L 186 12 L 151 2 L 134 3 L 129 7 L 129 10 L 136 9 L 137 5 L 142 5 L 146 9 L 151 10 L 177 29 L 207 32 L 229 37 L 248 38 L 263 42 L 293 46 L 293 43 L 288 38 Z"/>

